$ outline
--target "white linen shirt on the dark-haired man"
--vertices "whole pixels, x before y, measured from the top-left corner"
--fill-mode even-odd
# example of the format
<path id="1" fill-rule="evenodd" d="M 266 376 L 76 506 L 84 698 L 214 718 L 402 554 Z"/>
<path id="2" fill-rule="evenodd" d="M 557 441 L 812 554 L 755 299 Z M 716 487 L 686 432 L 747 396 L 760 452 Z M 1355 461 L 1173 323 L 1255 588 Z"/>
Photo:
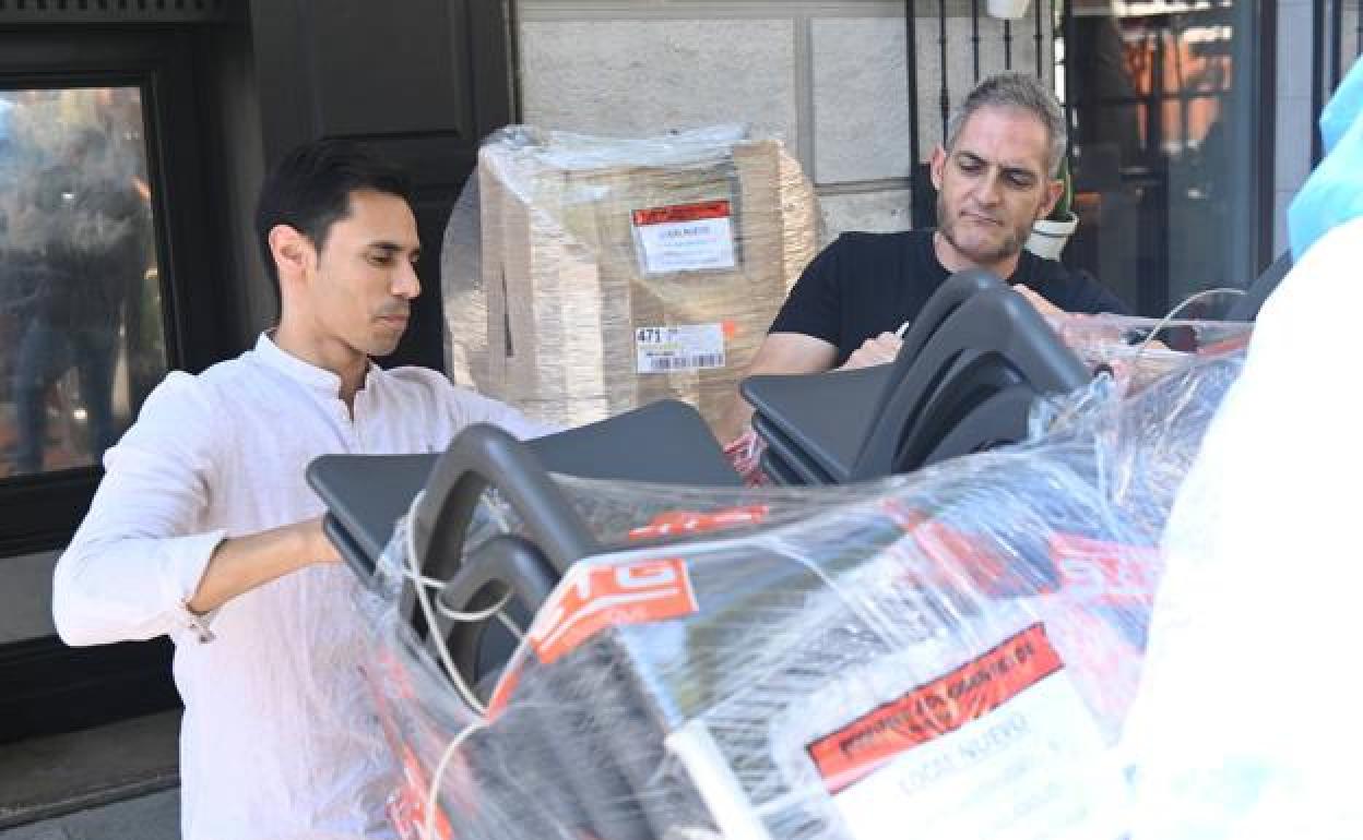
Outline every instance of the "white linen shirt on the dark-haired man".
<path id="1" fill-rule="evenodd" d="M 105 453 L 57 562 L 67 644 L 176 643 L 184 840 L 391 836 L 354 575 L 307 566 L 195 618 L 184 604 L 217 545 L 323 513 L 304 481 L 319 455 L 440 452 L 474 422 L 548 430 L 433 370 L 371 365 L 353 419 L 339 385 L 266 335 L 199 376 L 169 374 Z"/>

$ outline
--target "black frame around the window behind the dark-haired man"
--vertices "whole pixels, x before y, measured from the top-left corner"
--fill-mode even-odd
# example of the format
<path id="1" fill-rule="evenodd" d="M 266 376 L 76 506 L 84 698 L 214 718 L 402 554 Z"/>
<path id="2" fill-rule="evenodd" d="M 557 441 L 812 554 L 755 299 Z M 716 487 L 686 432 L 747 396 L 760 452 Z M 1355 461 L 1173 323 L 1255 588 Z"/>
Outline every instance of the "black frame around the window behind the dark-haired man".
<path id="1" fill-rule="evenodd" d="M 229 319 L 219 317 L 224 286 L 214 276 L 206 231 L 213 215 L 198 140 L 203 117 L 195 67 L 194 39 L 184 30 L 0 30 L 0 88 L 140 88 L 166 364 L 198 372 L 222 358 Z M 90 466 L 0 479 L 0 562 L 64 546 L 101 476 L 102 468 Z"/>

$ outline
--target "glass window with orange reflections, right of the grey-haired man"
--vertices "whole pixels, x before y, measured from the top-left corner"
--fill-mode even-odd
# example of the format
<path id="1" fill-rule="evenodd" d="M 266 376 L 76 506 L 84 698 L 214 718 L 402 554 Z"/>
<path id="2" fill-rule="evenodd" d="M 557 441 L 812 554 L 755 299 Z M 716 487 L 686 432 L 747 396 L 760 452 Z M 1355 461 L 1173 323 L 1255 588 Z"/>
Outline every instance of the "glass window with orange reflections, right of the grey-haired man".
<path id="1" fill-rule="evenodd" d="M 1201 290 L 1247 286 L 1272 201 L 1258 61 L 1258 4 L 1074 4 L 1073 108 L 1079 227 L 1065 261 L 1144 314 Z M 1272 91 L 1269 91 L 1272 93 Z M 1219 295 L 1184 310 L 1223 313 Z"/>

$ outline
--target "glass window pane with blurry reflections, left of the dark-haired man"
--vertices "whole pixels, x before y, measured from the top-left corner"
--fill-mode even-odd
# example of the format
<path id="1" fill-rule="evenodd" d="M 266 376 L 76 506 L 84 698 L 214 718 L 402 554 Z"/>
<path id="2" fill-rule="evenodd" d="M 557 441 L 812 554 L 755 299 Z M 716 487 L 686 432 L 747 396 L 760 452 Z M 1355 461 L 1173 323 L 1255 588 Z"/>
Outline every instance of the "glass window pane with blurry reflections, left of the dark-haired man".
<path id="1" fill-rule="evenodd" d="M 0 91 L 0 481 L 98 463 L 166 372 L 136 87 Z"/>

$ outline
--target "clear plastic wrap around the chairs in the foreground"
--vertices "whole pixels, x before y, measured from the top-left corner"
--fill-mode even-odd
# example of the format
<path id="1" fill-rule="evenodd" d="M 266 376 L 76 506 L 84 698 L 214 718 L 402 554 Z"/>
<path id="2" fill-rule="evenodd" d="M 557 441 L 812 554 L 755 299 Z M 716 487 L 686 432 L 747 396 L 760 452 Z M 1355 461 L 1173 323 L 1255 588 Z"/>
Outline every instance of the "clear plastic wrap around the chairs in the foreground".
<path id="1" fill-rule="evenodd" d="M 408 837 L 1119 837 L 1114 749 L 1154 550 L 1239 358 L 1048 403 L 1030 444 L 833 489 L 562 478 L 572 566 L 459 700 L 395 592 L 364 609 Z M 470 546 L 517 531 L 485 501 Z M 690 535 L 680 543 L 639 540 Z M 438 780 L 438 784 L 435 783 Z M 424 803 L 431 792 L 439 811 Z"/>

